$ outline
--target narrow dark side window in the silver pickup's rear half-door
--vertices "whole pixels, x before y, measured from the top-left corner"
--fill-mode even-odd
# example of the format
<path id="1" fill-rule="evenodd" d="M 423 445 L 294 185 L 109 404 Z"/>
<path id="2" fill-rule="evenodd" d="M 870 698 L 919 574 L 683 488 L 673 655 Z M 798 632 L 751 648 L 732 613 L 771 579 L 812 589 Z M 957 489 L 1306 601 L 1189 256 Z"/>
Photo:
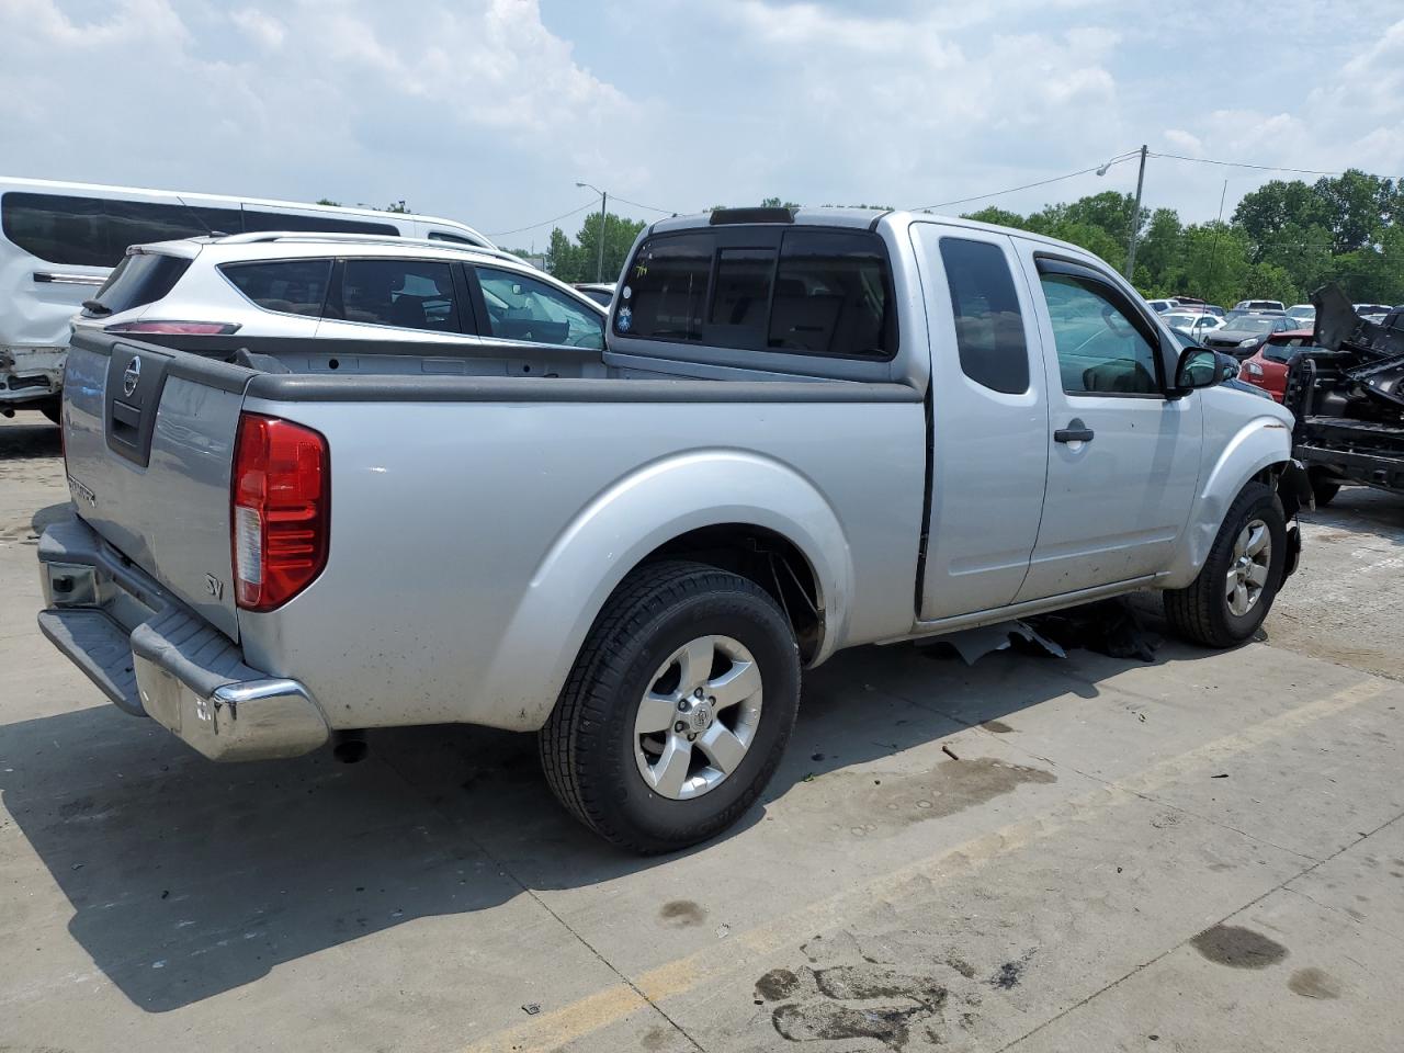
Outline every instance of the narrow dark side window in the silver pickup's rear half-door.
<path id="1" fill-rule="evenodd" d="M 960 371 L 995 392 L 1029 390 L 1024 314 L 1004 251 L 988 241 L 942 237 L 941 261 L 951 286 Z"/>

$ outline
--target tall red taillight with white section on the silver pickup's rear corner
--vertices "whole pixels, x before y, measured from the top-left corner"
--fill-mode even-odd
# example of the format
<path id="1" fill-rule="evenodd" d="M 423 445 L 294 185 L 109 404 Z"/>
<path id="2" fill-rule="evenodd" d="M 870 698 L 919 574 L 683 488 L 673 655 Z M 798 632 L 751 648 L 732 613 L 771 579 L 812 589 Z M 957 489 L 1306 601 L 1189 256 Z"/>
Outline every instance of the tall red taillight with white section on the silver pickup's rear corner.
<path id="1" fill-rule="evenodd" d="M 246 611 L 271 611 L 327 564 L 327 441 L 300 424 L 241 414 L 232 491 L 234 598 Z"/>

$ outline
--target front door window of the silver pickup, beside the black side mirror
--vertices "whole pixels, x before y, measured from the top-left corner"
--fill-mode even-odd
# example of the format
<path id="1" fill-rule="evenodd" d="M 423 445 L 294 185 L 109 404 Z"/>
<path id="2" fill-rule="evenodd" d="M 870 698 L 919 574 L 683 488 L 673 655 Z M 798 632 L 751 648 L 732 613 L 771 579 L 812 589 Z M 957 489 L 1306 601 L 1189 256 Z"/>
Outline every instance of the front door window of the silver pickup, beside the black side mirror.
<path id="1" fill-rule="evenodd" d="M 1118 306 L 1112 289 L 1091 278 L 1040 275 L 1068 395 L 1158 395 L 1157 351 Z"/>

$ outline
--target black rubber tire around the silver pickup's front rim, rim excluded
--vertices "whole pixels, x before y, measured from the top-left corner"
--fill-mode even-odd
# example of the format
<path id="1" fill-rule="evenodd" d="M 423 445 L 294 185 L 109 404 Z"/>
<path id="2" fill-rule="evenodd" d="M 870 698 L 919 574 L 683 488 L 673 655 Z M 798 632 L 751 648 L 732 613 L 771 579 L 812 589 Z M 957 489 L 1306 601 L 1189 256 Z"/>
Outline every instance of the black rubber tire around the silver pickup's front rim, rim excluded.
<path id="1" fill-rule="evenodd" d="M 1236 615 L 1228 608 L 1224 583 L 1234 563 L 1234 542 L 1254 519 L 1266 525 L 1272 542 L 1268 578 L 1257 602 L 1245 614 Z M 1248 640 L 1272 609 L 1282 585 L 1286 555 L 1287 522 L 1282 503 L 1271 487 L 1248 483 L 1228 507 L 1199 576 L 1185 588 L 1165 590 L 1165 618 L 1171 628 L 1191 643 L 1205 647 L 1233 647 Z"/>

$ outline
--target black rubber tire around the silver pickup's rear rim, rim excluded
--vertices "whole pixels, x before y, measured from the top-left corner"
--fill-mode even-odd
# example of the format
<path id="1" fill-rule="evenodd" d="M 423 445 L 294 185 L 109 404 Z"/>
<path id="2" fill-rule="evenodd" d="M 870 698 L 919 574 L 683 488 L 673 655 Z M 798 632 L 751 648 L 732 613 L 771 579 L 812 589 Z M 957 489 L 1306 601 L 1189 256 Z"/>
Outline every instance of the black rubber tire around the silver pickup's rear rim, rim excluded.
<path id="1" fill-rule="evenodd" d="M 737 768 L 715 789 L 677 800 L 640 774 L 635 719 L 660 663 L 699 635 L 729 636 L 751 653 L 764 703 Z M 611 844 L 644 855 L 687 848 L 736 823 L 765 789 L 795 726 L 799 684 L 795 633 L 765 590 L 702 563 L 647 564 L 600 612 L 541 731 L 546 781 Z"/>

